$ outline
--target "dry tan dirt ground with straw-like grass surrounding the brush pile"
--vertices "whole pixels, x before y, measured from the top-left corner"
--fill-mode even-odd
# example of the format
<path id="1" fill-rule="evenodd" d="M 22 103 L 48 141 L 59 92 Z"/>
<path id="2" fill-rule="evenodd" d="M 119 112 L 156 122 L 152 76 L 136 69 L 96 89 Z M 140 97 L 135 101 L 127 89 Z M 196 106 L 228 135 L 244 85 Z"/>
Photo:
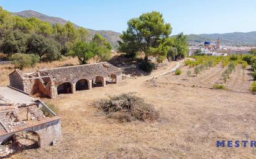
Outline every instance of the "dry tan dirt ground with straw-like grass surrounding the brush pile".
<path id="1" fill-rule="evenodd" d="M 179 77 L 168 73 L 177 64 L 104 88 L 44 99 L 60 108 L 62 141 L 11 158 L 255 158 L 255 148 L 216 148 L 216 140 L 256 140 L 255 95 L 181 84 L 186 71 Z M 221 71 L 216 66 L 191 81 L 212 86 Z M 234 76 L 240 74 L 238 70 Z M 137 92 L 155 105 L 160 121 L 120 123 L 91 106 L 99 98 L 127 92 Z"/>

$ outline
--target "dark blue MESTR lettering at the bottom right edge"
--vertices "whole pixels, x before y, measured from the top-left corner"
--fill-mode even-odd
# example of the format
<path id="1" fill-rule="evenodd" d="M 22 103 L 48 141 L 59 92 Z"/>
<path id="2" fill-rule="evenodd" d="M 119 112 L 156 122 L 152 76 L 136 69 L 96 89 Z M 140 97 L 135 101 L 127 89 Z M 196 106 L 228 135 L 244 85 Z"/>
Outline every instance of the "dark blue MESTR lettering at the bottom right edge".
<path id="1" fill-rule="evenodd" d="M 217 140 L 216 147 L 256 147 L 256 140 Z"/>

